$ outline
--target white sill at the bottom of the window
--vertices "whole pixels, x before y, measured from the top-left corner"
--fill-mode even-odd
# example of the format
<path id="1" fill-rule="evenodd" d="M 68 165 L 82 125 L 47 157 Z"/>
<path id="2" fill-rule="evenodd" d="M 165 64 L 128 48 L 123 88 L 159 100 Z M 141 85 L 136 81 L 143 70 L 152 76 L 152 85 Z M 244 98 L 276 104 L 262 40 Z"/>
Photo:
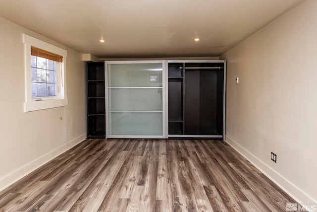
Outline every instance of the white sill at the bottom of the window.
<path id="1" fill-rule="evenodd" d="M 42 100 L 42 101 L 32 101 L 24 103 L 24 112 L 44 110 L 54 107 L 67 106 L 67 99 L 53 99 L 53 100 Z"/>

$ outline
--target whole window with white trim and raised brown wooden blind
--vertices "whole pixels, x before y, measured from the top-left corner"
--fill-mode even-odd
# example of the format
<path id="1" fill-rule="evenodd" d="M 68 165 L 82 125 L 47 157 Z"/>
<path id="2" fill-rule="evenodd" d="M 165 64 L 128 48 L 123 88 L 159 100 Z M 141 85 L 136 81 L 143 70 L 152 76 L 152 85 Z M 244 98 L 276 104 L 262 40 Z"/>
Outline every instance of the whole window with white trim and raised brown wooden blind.
<path id="1" fill-rule="evenodd" d="M 67 51 L 23 34 L 25 45 L 24 111 L 66 106 Z"/>

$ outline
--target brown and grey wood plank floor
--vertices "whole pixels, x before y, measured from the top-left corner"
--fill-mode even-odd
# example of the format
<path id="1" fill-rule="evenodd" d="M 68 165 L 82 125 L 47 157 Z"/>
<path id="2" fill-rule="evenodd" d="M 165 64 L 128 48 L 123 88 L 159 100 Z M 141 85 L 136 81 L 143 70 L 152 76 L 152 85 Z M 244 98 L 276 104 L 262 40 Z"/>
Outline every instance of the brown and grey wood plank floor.
<path id="1" fill-rule="evenodd" d="M 223 141 L 86 140 L 0 192 L 0 212 L 268 212 L 295 203 Z"/>

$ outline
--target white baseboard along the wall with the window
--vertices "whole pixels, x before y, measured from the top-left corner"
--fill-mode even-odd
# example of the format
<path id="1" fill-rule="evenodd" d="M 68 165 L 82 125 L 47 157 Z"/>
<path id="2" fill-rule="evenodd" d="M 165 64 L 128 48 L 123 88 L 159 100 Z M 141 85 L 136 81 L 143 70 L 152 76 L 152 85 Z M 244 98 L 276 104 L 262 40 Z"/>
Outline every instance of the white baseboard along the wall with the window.
<path id="1" fill-rule="evenodd" d="M 13 172 L 7 174 L 3 178 L 0 179 L 0 191 L 4 190 L 8 186 L 12 185 L 16 181 L 20 180 L 21 178 L 25 177 L 27 174 L 31 173 L 35 169 L 39 168 L 40 166 L 44 165 L 45 163 L 49 162 L 53 158 L 57 157 L 58 155 L 64 153 L 68 149 L 72 148 L 73 146 L 77 145 L 78 143 L 84 141 L 87 138 L 87 134 L 83 134 L 72 141 L 69 141 L 62 146 L 55 148 L 54 150 L 48 152 L 45 155 L 38 157 L 37 159 L 25 164 L 24 166 L 14 170 Z"/>

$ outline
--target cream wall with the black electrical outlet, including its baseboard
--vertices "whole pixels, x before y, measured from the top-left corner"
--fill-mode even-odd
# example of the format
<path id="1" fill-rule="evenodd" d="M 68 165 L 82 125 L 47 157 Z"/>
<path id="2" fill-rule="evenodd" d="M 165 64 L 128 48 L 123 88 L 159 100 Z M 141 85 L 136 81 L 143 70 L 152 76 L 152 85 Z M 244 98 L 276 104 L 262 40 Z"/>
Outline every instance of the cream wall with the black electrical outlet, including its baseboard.
<path id="1" fill-rule="evenodd" d="M 304 1 L 220 57 L 228 143 L 301 203 L 317 201 L 316 11 Z"/>

